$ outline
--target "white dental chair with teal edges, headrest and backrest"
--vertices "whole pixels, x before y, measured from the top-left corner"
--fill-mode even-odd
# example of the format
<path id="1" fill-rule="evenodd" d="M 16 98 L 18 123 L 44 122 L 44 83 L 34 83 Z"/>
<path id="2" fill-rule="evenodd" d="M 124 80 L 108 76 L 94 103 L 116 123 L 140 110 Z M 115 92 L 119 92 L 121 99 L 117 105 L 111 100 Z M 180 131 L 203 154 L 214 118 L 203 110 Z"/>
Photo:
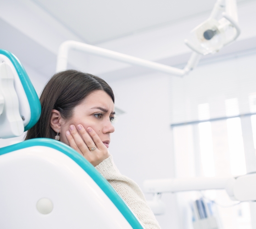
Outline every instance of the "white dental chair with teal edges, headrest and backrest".
<path id="1" fill-rule="evenodd" d="M 21 63 L 0 50 L 0 138 L 21 136 L 40 112 Z M 94 166 L 48 138 L 0 148 L 0 228 L 143 229 Z"/>

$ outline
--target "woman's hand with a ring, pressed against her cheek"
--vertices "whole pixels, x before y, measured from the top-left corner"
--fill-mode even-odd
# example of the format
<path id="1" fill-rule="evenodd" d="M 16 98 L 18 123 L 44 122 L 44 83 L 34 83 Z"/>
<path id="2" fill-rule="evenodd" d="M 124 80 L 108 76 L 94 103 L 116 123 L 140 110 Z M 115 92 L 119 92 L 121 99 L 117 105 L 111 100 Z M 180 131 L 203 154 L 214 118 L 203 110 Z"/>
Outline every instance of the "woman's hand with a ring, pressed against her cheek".
<path id="1" fill-rule="evenodd" d="M 79 135 L 78 131 L 82 137 Z M 69 131 L 66 132 L 67 141 L 70 147 L 83 155 L 93 166 L 97 166 L 108 158 L 110 154 L 95 131 L 91 127 L 88 127 L 87 131 L 81 124 L 79 124 L 77 128 L 74 125 L 70 125 Z M 89 148 L 94 146 L 97 148 L 90 151 Z"/>

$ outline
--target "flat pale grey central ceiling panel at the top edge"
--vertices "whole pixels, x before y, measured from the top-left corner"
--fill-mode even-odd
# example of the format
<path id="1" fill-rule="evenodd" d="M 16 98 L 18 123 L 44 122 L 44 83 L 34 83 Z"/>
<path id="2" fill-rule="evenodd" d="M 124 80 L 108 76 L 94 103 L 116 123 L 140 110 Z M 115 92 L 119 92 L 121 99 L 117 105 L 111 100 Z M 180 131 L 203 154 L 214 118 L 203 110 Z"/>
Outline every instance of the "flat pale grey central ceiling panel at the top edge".
<path id="1" fill-rule="evenodd" d="M 238 0 L 245 2 L 248 0 Z M 216 0 L 33 0 L 84 42 L 97 44 L 211 11 Z"/>

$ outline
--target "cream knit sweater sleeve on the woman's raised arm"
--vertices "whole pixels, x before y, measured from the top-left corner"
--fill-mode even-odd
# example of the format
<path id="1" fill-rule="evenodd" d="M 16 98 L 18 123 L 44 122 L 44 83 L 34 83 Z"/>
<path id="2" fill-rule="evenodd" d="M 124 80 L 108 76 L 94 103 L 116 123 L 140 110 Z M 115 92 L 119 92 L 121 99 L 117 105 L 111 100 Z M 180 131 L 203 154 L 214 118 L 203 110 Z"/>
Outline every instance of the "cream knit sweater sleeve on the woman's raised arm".
<path id="1" fill-rule="evenodd" d="M 118 171 L 112 156 L 106 158 L 95 169 L 112 185 L 145 229 L 160 229 L 139 186 Z"/>

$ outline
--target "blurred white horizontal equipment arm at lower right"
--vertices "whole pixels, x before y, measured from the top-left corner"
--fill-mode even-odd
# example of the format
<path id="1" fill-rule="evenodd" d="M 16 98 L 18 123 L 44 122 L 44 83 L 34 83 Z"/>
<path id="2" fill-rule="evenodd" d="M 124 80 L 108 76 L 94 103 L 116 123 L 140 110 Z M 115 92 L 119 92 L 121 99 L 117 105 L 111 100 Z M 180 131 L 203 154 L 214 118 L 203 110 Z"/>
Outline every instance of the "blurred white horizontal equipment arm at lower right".
<path id="1" fill-rule="evenodd" d="M 149 193 L 224 189 L 232 200 L 256 201 L 256 172 L 239 177 L 145 180 L 143 185 Z"/>

